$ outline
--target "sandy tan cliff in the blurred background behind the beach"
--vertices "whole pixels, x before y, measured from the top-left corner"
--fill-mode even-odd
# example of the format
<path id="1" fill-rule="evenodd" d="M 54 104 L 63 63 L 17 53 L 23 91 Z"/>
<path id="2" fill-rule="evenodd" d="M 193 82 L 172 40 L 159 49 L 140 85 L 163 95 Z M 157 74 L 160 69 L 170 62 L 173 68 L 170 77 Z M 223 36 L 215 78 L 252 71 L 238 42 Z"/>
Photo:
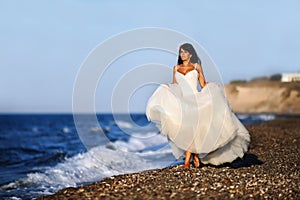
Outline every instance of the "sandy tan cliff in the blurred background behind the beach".
<path id="1" fill-rule="evenodd" d="M 300 82 L 232 82 L 225 91 L 237 113 L 300 114 Z"/>

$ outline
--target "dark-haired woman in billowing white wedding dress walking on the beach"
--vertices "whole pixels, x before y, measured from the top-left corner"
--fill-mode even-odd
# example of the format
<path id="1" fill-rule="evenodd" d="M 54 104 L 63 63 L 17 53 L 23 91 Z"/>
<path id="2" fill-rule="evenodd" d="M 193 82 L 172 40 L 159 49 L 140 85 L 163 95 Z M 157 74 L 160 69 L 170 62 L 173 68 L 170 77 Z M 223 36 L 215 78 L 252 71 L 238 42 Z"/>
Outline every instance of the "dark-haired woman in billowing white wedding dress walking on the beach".
<path id="1" fill-rule="evenodd" d="M 168 137 L 174 156 L 185 154 L 184 168 L 190 167 L 191 158 L 195 167 L 200 160 L 213 165 L 232 162 L 248 149 L 248 131 L 231 111 L 224 89 L 206 82 L 191 44 L 180 46 L 173 83 L 157 88 L 146 115 Z"/>

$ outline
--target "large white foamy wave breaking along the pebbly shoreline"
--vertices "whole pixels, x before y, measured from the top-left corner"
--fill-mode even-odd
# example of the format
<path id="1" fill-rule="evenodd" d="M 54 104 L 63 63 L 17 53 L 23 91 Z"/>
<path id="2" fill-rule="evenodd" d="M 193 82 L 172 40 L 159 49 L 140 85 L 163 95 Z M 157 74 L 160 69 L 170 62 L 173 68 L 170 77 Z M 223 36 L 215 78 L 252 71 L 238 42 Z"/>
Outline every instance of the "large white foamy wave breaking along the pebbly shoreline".
<path id="1" fill-rule="evenodd" d="M 112 175 L 165 167 L 173 161 L 171 150 L 166 150 L 167 148 L 137 153 L 132 151 L 147 145 L 136 139 L 123 145 L 127 152 L 119 148 L 112 150 L 105 146 L 95 147 L 86 153 L 67 158 L 54 167 L 37 169 L 43 172 L 29 173 L 23 179 L 1 186 L 1 190 L 12 191 L 32 187 L 31 195 L 47 195 L 65 187 L 75 187 Z"/>

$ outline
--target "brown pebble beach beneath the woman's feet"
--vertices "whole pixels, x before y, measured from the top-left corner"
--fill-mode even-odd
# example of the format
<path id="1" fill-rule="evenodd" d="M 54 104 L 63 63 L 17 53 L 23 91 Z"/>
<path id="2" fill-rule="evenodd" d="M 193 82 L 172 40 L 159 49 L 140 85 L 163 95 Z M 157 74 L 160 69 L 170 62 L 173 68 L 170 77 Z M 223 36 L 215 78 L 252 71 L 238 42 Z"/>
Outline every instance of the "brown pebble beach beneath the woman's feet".
<path id="1" fill-rule="evenodd" d="M 124 174 L 38 199 L 300 199 L 300 119 L 247 129 L 249 151 L 231 164 Z"/>

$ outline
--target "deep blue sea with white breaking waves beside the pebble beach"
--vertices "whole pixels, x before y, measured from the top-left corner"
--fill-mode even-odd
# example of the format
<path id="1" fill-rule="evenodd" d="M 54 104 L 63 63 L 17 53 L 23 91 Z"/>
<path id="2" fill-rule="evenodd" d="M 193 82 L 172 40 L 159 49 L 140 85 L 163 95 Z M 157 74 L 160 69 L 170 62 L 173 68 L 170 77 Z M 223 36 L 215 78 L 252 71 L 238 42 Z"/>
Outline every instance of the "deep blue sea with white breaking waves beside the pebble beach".
<path id="1" fill-rule="evenodd" d="M 96 114 L 98 124 L 80 124 L 73 114 L 0 114 L 0 199 L 33 199 L 113 175 L 183 163 L 145 114 L 129 116 Z M 276 118 L 237 116 L 245 125 Z"/>

